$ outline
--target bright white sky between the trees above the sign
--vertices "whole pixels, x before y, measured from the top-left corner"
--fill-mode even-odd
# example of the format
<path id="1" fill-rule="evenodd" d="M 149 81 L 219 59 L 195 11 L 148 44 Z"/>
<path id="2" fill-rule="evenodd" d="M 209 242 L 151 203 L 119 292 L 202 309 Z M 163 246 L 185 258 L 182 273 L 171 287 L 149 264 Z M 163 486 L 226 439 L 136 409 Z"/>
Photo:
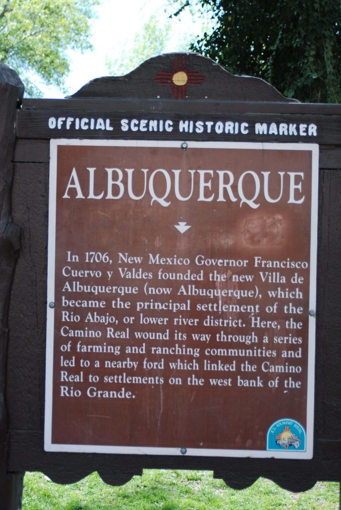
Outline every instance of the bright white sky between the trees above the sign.
<path id="1" fill-rule="evenodd" d="M 94 78 L 114 74 L 115 67 L 110 65 L 117 62 L 120 56 L 126 58 L 129 48 L 134 50 L 134 43 L 152 15 L 160 20 L 160 25 L 168 27 L 169 35 L 165 52 L 176 52 L 184 49 L 186 42 L 195 40 L 202 33 L 203 20 L 192 16 L 189 12 L 181 17 L 169 19 L 165 8 L 167 0 L 102 0 L 97 8 L 97 19 L 92 22 L 93 51 L 85 53 L 70 51 L 71 72 L 65 85 L 69 94 L 73 94 L 83 85 Z M 108 65 L 109 64 L 109 65 Z M 117 67 L 122 74 L 124 62 Z M 128 68 L 127 72 L 131 69 Z M 47 87 L 38 83 L 44 97 L 62 98 L 64 94 L 56 87 Z"/>

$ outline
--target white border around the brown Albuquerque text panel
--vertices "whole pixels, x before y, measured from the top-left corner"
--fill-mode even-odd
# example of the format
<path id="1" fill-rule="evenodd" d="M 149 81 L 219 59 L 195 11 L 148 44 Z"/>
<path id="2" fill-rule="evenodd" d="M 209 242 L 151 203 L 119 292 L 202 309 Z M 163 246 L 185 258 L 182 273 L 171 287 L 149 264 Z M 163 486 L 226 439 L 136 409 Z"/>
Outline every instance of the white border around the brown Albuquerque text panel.
<path id="1" fill-rule="evenodd" d="M 310 287 L 309 311 L 316 311 L 316 277 L 317 277 L 317 230 L 318 230 L 318 177 L 319 145 L 314 143 L 259 143 L 259 142 L 193 142 L 186 141 L 190 148 L 208 149 L 256 149 L 256 150 L 310 150 L 311 151 L 311 223 L 310 223 Z M 306 451 L 288 450 L 229 450 L 186 448 L 159 448 L 145 446 L 108 446 L 78 445 L 52 443 L 53 414 L 53 352 L 54 352 L 54 317 L 55 309 L 55 256 L 56 256 L 56 193 L 59 145 L 87 146 L 125 146 L 125 147 L 179 147 L 181 141 L 146 141 L 146 140 L 86 140 L 53 139 L 50 140 L 49 172 L 49 209 L 48 209 L 48 263 L 47 263 L 47 326 L 46 326 L 46 382 L 45 382 L 45 429 L 44 449 L 55 452 L 78 453 L 129 453 L 144 455 L 186 455 L 211 457 L 254 457 L 254 458 L 291 458 L 309 459 L 313 454 L 313 412 L 314 412 L 314 368 L 316 318 L 310 316 L 308 322 L 308 377 L 307 377 L 307 428 Z M 52 307 L 52 308 L 51 308 Z"/>

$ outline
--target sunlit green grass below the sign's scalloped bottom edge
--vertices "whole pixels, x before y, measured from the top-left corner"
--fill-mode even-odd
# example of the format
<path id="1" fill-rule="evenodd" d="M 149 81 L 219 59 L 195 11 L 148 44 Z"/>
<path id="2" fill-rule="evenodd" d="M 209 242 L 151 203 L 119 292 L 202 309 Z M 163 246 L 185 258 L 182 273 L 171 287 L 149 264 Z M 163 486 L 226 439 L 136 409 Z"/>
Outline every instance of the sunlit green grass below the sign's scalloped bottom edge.
<path id="1" fill-rule="evenodd" d="M 209 471 L 150 469 L 121 487 L 108 486 L 97 473 L 65 486 L 27 473 L 22 510 L 336 510 L 338 501 L 334 482 L 291 493 L 259 478 L 235 491 Z"/>

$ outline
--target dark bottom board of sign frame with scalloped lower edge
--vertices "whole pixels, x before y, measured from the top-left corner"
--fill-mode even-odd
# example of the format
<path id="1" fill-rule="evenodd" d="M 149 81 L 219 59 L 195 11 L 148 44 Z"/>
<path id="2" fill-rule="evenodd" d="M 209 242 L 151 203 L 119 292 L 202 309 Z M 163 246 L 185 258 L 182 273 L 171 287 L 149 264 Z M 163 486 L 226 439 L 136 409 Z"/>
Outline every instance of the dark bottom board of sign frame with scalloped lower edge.
<path id="1" fill-rule="evenodd" d="M 107 483 L 120 485 L 142 469 L 205 469 L 213 470 L 235 489 L 249 487 L 259 476 L 265 476 L 284 489 L 310 489 L 316 480 L 338 481 L 339 456 L 334 441 L 316 441 L 312 461 L 278 459 L 186 457 L 162 455 L 110 455 L 42 452 L 43 435 L 39 430 L 11 432 L 10 467 L 24 465 L 27 471 L 43 471 L 53 481 L 72 483 L 98 471 Z M 336 448 L 335 448 L 336 446 Z M 325 458 L 328 462 L 325 462 Z M 298 476 L 299 473 L 299 476 Z"/>

